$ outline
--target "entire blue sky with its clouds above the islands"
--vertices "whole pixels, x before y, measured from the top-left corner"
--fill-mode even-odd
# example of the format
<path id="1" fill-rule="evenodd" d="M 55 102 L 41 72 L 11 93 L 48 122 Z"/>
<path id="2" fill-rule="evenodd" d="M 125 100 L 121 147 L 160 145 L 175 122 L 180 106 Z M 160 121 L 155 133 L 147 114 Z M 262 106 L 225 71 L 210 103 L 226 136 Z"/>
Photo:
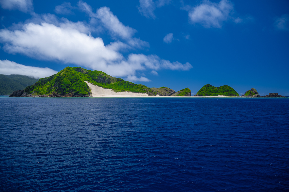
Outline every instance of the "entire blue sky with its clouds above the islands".
<path id="1" fill-rule="evenodd" d="M 0 0 L 0 73 L 66 66 L 192 94 L 289 95 L 289 1 Z"/>

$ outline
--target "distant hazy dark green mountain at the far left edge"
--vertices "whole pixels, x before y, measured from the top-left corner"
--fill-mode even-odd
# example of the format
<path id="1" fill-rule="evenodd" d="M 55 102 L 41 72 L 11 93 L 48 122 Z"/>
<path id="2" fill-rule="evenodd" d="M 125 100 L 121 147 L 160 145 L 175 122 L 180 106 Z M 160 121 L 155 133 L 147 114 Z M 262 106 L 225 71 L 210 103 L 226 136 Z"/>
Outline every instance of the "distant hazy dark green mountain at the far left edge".
<path id="1" fill-rule="evenodd" d="M 25 75 L 0 74 L 0 95 L 9 95 L 15 90 L 23 90 L 28 85 L 34 84 L 38 79 Z"/>

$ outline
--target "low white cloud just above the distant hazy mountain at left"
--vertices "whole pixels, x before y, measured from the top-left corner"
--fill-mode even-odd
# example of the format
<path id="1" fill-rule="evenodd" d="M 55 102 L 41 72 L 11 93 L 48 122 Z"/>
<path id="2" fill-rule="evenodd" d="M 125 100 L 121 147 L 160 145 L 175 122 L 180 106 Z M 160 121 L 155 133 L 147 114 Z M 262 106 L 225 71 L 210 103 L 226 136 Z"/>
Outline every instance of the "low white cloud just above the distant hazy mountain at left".
<path id="1" fill-rule="evenodd" d="M 58 73 L 58 71 L 54 71 L 47 67 L 26 66 L 9 60 L 0 60 L 0 74 L 4 75 L 17 74 L 27 75 L 34 78 L 44 78 L 56 73 Z"/>

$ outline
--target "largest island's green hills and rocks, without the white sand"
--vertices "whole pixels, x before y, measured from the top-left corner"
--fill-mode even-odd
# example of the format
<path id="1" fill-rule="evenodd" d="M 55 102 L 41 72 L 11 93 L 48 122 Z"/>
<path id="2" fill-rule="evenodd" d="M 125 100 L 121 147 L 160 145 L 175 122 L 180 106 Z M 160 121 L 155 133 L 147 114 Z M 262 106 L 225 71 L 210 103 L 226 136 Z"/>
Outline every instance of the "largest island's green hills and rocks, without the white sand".
<path id="1" fill-rule="evenodd" d="M 149 88 L 112 77 L 102 71 L 90 71 L 81 67 L 66 67 L 55 75 L 39 79 L 24 90 L 13 92 L 10 96 L 88 97 L 91 92 L 84 81 L 112 89 L 114 92 L 147 93 L 149 96 L 191 96 L 189 88 L 178 92 L 167 87 Z"/>

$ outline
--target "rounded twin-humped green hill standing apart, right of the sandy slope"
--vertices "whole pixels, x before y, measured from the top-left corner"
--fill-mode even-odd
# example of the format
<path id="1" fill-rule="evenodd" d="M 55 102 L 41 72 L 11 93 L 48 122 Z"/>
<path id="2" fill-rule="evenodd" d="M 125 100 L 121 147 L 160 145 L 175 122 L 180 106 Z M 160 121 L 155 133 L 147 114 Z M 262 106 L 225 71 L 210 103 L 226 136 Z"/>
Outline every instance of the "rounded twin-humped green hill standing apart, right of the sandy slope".
<path id="1" fill-rule="evenodd" d="M 214 87 L 210 84 L 203 86 L 195 96 L 239 96 L 239 94 L 230 86 L 223 85 L 221 87 Z"/>

